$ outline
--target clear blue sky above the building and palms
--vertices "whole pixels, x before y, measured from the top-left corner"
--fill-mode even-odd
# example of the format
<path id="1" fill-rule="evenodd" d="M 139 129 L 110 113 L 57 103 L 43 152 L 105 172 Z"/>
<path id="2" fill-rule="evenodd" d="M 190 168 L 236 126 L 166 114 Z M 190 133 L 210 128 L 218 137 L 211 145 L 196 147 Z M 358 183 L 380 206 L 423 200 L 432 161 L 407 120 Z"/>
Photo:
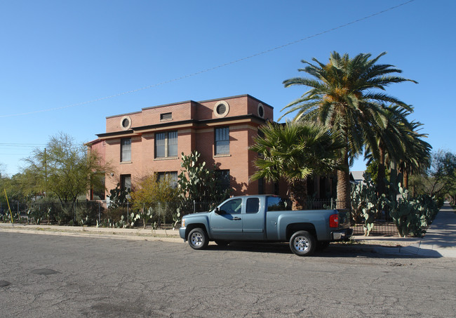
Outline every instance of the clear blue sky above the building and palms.
<path id="1" fill-rule="evenodd" d="M 332 51 L 387 51 L 379 62 L 419 82 L 387 93 L 415 107 L 434 150 L 456 153 L 456 1 L 407 1 L 1 1 L 0 171 L 18 173 L 52 135 L 94 140 L 107 116 L 143 107 L 250 94 L 278 119 L 306 90 L 282 81 Z"/>

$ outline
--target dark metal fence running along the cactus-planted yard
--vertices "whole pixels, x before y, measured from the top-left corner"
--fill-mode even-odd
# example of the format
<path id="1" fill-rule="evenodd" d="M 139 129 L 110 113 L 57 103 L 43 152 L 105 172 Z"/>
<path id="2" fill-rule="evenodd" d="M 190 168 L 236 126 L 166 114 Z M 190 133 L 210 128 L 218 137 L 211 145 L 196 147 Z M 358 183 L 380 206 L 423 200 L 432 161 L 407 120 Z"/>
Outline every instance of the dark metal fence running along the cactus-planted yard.
<path id="1" fill-rule="evenodd" d="M 156 203 L 154 215 L 147 222 L 147 226 L 157 228 L 171 228 L 176 224 L 175 213 L 177 208 L 180 216 L 188 213 L 197 213 L 212 210 L 220 202 L 172 202 L 161 205 Z M 306 209 L 318 210 L 336 208 L 337 201 L 334 199 L 311 199 L 305 204 Z M 146 206 L 143 208 L 147 209 Z M 11 215 L 15 222 L 35 224 L 59 224 L 59 225 L 101 225 L 116 226 L 116 222 L 129 218 L 131 213 L 138 213 L 132 204 L 126 203 L 120 206 L 109 205 L 106 201 L 76 201 L 74 204 L 60 204 L 57 202 L 30 202 L 11 204 Z M 353 212 L 351 212 L 353 213 Z M 0 221 L 10 222 L 8 206 L 0 203 Z M 144 227 L 142 220 L 136 220 L 135 226 Z M 351 214 L 351 228 L 354 234 L 364 234 L 362 218 Z M 387 211 L 377 215 L 373 230 L 370 235 L 396 235 L 396 225 Z"/>

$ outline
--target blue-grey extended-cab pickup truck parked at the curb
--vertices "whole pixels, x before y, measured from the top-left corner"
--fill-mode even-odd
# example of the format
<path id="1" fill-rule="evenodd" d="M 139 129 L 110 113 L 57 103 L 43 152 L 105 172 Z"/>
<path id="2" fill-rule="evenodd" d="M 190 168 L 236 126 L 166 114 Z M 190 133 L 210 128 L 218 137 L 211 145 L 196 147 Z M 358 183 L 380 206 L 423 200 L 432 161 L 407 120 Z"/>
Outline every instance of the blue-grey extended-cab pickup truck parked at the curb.
<path id="1" fill-rule="evenodd" d="M 288 241 L 297 256 L 309 256 L 331 241 L 349 239 L 349 212 L 344 210 L 287 211 L 287 204 L 273 195 L 232 197 L 213 211 L 182 217 L 179 234 L 192 249 L 215 241 Z"/>

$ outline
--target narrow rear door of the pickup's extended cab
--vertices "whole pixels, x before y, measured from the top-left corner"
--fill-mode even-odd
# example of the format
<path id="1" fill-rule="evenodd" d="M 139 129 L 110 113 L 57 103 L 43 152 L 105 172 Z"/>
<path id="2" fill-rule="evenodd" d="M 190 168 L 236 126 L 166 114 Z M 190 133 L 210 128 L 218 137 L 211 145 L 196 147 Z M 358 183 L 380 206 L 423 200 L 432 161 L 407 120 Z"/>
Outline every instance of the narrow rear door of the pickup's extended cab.
<path id="1" fill-rule="evenodd" d="M 242 218 L 243 239 L 264 239 L 264 213 L 260 211 L 260 198 L 249 197 Z"/>

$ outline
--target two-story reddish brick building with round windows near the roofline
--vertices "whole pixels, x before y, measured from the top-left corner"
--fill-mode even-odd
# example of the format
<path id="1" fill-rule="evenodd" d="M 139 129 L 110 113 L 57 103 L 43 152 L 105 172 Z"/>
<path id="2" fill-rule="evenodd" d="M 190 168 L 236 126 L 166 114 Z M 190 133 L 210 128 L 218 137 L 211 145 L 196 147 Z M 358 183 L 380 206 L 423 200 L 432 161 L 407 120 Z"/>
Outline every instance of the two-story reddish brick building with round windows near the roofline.
<path id="1" fill-rule="evenodd" d="M 248 147 L 258 127 L 273 120 L 273 107 L 250 95 L 189 100 L 107 117 L 106 132 L 87 145 L 116 171 L 106 175 L 107 190 L 118 183 L 131 187 L 151 173 L 177 179 L 182 152 L 196 150 L 208 166 L 216 164 L 215 178 L 225 180 L 234 195 L 272 194 L 279 191 L 276 185 L 249 182 L 256 154 Z"/>

